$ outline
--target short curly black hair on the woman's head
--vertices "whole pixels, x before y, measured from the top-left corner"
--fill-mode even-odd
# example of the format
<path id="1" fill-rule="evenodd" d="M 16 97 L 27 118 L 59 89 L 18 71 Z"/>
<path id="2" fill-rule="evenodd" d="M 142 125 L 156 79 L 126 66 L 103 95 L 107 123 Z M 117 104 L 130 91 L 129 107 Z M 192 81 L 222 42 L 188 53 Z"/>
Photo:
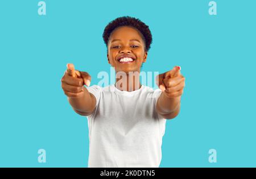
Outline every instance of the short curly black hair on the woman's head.
<path id="1" fill-rule="evenodd" d="M 108 48 L 108 42 L 109 42 L 109 37 L 111 33 L 115 30 L 115 28 L 118 28 L 121 26 L 133 27 L 137 29 L 139 32 L 141 32 L 142 39 L 145 44 L 145 51 L 147 52 L 150 49 L 150 45 L 152 43 L 152 35 L 149 27 L 141 20 L 130 17 L 130 16 L 122 16 L 122 17 L 116 18 L 112 20 L 112 22 L 110 22 L 105 27 L 102 37 L 104 39 L 104 43 L 106 44 L 107 48 Z"/>

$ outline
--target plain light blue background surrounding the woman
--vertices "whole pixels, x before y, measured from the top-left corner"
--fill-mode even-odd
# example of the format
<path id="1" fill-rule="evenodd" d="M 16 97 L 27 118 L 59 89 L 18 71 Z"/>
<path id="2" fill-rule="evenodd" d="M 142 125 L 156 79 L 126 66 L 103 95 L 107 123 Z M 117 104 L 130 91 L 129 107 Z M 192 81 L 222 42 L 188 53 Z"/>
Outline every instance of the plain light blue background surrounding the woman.
<path id="1" fill-rule="evenodd" d="M 0 1 L 0 166 L 87 167 L 87 118 L 61 89 L 67 63 L 97 84 L 109 72 L 104 27 L 130 15 L 150 26 L 145 71 L 181 66 L 180 114 L 167 121 L 160 167 L 256 166 L 256 1 Z M 38 149 L 47 162 L 38 163 Z M 208 151 L 217 150 L 217 163 Z"/>

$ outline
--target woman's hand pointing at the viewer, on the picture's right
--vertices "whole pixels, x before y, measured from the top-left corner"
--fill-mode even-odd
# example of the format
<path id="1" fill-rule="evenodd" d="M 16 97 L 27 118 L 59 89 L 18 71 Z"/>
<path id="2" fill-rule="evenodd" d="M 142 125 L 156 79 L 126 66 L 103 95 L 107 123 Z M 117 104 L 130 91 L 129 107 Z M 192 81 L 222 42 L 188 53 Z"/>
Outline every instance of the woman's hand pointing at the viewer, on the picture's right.
<path id="1" fill-rule="evenodd" d="M 180 73 L 180 66 L 156 76 L 156 84 L 168 98 L 180 97 L 185 86 L 185 77 Z"/>

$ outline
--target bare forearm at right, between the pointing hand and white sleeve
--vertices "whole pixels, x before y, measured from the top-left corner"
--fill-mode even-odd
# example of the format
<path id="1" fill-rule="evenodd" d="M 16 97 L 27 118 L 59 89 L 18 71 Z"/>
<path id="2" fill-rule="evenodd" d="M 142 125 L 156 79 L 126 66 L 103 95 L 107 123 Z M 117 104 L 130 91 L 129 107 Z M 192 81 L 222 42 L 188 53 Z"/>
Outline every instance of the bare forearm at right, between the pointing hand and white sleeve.
<path id="1" fill-rule="evenodd" d="M 156 102 L 156 112 L 165 119 L 175 118 L 180 112 L 180 98 L 168 98 L 162 92 Z"/>

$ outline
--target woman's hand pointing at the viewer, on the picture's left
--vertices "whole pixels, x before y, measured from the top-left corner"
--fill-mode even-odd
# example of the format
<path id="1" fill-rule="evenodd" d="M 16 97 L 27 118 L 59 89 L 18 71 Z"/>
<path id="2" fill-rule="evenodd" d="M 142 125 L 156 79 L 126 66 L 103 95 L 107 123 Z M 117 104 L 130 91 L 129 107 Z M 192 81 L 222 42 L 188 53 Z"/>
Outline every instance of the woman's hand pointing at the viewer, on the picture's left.
<path id="1" fill-rule="evenodd" d="M 61 78 L 61 88 L 64 94 L 71 98 L 78 98 L 84 94 L 85 87 L 90 86 L 91 77 L 87 72 L 75 70 L 73 64 L 67 64 L 67 70 Z"/>

